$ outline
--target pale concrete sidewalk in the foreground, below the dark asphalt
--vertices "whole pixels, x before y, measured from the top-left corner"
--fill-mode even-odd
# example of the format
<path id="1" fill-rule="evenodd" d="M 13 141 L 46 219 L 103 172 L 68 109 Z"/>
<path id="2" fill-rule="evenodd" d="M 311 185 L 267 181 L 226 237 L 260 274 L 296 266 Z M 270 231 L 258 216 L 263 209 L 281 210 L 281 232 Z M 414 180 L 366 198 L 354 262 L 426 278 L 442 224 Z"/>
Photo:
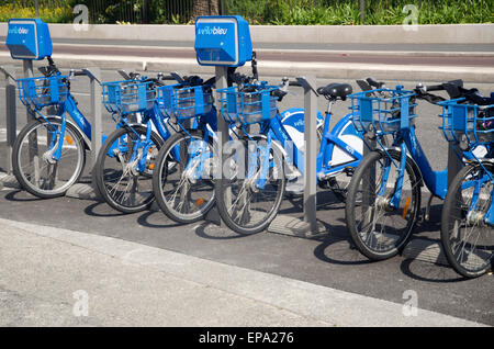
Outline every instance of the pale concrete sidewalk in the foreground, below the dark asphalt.
<path id="1" fill-rule="evenodd" d="M 76 316 L 86 296 L 88 316 Z M 403 308 L 111 237 L 0 219 L 1 326 L 480 325 L 424 309 L 405 316 Z"/>

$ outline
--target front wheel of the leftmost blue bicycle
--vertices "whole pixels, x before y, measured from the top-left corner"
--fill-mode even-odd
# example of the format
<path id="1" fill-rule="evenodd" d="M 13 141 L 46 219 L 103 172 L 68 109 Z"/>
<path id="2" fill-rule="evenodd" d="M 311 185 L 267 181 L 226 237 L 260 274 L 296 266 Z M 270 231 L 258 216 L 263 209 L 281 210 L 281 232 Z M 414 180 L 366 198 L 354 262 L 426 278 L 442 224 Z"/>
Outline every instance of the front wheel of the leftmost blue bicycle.
<path id="1" fill-rule="evenodd" d="M 61 120 L 32 120 L 19 133 L 13 146 L 12 168 L 26 191 L 43 199 L 61 196 L 76 183 L 85 168 L 85 142 L 67 123 L 60 137 Z M 61 142 L 59 159 L 55 153 Z"/>

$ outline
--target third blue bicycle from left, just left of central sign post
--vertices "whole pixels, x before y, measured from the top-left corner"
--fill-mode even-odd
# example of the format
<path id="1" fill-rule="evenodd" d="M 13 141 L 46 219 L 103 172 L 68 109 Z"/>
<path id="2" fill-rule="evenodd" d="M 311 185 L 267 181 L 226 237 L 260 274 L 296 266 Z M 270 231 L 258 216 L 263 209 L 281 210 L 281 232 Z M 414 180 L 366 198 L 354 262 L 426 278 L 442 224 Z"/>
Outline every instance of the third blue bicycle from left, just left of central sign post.
<path id="1" fill-rule="evenodd" d="M 153 188 L 161 211 L 178 223 L 202 219 L 215 203 L 212 180 L 217 124 L 213 83 L 214 78 L 158 90 L 167 123 L 176 133 L 157 156 Z"/>

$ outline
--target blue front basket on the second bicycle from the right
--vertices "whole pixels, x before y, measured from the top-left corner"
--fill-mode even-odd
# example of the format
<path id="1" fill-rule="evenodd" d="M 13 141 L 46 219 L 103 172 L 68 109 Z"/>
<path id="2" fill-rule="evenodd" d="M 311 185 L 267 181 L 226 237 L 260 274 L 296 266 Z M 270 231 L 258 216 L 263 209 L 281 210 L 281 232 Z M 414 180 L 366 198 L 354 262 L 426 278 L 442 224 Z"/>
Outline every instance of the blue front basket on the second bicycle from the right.
<path id="1" fill-rule="evenodd" d="M 378 135 L 385 135 L 415 125 L 415 93 L 400 86 L 358 92 L 349 98 L 351 120 L 359 132 L 372 128 Z"/>

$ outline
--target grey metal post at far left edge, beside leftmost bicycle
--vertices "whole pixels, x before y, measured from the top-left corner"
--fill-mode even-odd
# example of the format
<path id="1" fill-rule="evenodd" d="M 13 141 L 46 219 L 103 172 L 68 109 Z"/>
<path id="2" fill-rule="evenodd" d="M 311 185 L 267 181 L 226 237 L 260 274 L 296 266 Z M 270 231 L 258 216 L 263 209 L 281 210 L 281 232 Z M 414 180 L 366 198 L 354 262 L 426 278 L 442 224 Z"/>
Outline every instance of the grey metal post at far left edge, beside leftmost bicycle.
<path id="1" fill-rule="evenodd" d="M 12 173 L 12 149 L 16 136 L 15 115 L 15 68 L 13 66 L 0 67 L 4 76 L 5 87 L 5 130 L 7 130 L 7 173 Z"/>

